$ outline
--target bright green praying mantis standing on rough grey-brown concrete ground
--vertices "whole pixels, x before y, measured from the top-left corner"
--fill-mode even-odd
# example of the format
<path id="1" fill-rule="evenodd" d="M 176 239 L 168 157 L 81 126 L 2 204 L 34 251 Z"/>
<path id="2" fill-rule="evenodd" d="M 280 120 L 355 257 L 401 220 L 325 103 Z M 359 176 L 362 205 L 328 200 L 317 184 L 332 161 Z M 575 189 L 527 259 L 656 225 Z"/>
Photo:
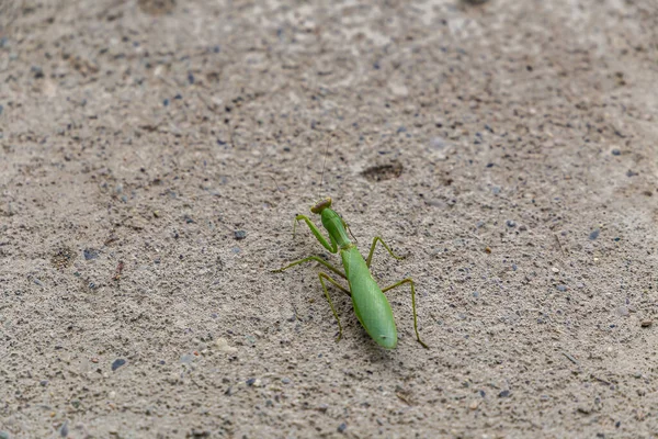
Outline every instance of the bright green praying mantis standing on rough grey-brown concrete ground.
<path id="1" fill-rule="evenodd" d="M 371 245 L 370 254 L 364 260 L 363 256 L 361 256 L 361 254 L 359 252 L 356 245 L 353 244 L 348 237 L 348 225 L 342 219 L 342 217 L 331 209 L 330 198 L 319 201 L 316 205 L 314 205 L 310 209 L 310 212 L 320 215 L 322 226 L 329 234 L 329 240 L 327 240 L 327 238 L 321 234 L 320 229 L 306 215 L 297 215 L 295 217 L 293 237 L 295 236 L 295 229 L 297 227 L 298 222 L 304 221 L 308 225 L 310 232 L 315 235 L 317 240 L 322 245 L 322 247 L 325 247 L 328 251 L 334 255 L 340 251 L 340 257 L 342 260 L 344 272 L 333 267 L 329 262 L 322 260 L 318 256 L 309 256 L 308 258 L 299 259 L 283 268 L 280 268 L 279 270 L 274 270 L 274 272 L 284 271 L 288 268 L 302 264 L 304 262 L 316 261 L 327 267 L 329 270 L 331 270 L 339 277 L 345 279 L 349 284 L 349 290 L 343 288 L 333 279 L 331 279 L 328 274 L 324 272 L 318 273 L 318 277 L 320 278 L 320 283 L 322 284 L 322 289 L 325 290 L 325 297 L 327 297 L 327 302 L 329 302 L 331 312 L 333 313 L 333 316 L 338 322 L 339 333 L 336 341 L 339 341 L 342 337 L 342 326 L 340 324 L 338 313 L 333 307 L 333 303 L 331 302 L 331 297 L 329 296 L 329 291 L 327 290 L 327 284 L 325 283 L 325 281 L 329 281 L 336 288 L 338 288 L 339 290 L 352 297 L 352 304 L 354 306 L 356 318 L 359 318 L 359 322 L 361 322 L 361 325 L 365 328 L 366 333 L 379 346 L 386 349 L 394 349 L 397 346 L 398 337 L 395 325 L 395 318 L 393 317 L 393 311 L 390 309 L 390 304 L 388 303 L 388 300 L 386 300 L 384 292 L 408 283 L 411 286 L 411 307 L 413 309 L 413 330 L 416 330 L 416 339 L 423 348 L 429 349 L 428 346 L 420 339 L 420 335 L 418 334 L 418 317 L 416 314 L 416 289 L 413 285 L 413 281 L 409 278 L 404 279 L 399 282 L 394 283 L 390 286 L 381 290 L 370 271 L 370 266 L 377 243 L 381 243 L 382 246 L 384 246 L 384 248 L 388 251 L 388 254 L 395 259 L 404 259 L 404 257 L 396 256 L 390 249 L 390 247 L 388 247 L 386 243 L 384 243 L 382 237 L 375 236 L 373 238 L 373 244 Z"/>

